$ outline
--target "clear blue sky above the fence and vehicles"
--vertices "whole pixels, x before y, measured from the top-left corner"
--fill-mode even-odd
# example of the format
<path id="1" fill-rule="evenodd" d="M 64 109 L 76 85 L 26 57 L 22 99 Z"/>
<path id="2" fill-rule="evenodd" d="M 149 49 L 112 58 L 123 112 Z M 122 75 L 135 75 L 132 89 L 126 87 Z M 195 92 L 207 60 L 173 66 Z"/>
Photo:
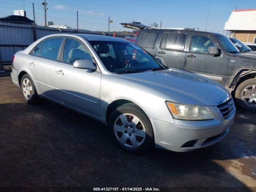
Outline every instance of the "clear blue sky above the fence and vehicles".
<path id="1" fill-rule="evenodd" d="M 25 9 L 33 20 L 32 2 L 35 4 L 36 23 L 43 25 L 43 0 L 0 0 L 0 17 Z M 48 0 L 47 21 L 76 28 L 76 11 L 79 28 L 108 30 L 108 16 L 114 21 L 110 30 L 124 30 L 120 22 L 137 21 L 143 24 L 160 23 L 163 27 L 206 29 L 210 2 L 208 31 L 223 32 L 232 10 L 256 8 L 256 0 Z M 128 29 L 127 29 L 128 30 Z"/>

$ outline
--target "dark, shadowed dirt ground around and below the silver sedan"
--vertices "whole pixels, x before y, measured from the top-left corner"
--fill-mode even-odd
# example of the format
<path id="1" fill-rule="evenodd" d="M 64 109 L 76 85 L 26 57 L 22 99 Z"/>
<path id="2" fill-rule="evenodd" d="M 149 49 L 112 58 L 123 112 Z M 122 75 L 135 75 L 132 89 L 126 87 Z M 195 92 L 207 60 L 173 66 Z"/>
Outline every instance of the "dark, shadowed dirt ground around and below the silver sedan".
<path id="1" fill-rule="evenodd" d="M 46 100 L 25 103 L 5 76 L 0 78 L 0 186 L 229 186 L 243 187 L 231 191 L 256 191 L 256 114 L 238 109 L 228 135 L 213 146 L 135 155 L 116 147 L 106 126 L 95 120 Z"/>

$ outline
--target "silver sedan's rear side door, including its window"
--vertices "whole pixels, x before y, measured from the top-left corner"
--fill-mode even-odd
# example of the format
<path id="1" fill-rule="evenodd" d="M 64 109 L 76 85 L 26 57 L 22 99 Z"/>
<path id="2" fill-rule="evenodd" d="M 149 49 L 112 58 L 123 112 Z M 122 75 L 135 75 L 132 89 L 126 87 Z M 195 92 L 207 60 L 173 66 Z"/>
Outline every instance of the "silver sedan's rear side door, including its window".
<path id="1" fill-rule="evenodd" d="M 62 41 L 63 37 L 47 38 L 37 44 L 27 57 L 28 72 L 37 93 L 51 99 L 56 99 L 54 72 Z"/>

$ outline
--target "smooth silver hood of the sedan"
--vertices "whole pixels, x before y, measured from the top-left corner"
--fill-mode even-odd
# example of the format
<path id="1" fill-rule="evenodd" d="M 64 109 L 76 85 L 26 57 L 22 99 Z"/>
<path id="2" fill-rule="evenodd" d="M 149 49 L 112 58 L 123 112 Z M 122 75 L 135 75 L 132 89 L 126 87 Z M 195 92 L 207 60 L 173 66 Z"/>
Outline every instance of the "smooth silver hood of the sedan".
<path id="1" fill-rule="evenodd" d="M 183 104 L 214 106 L 230 97 L 220 84 L 184 70 L 118 74 L 118 77 L 145 86 L 145 89 L 153 90 L 152 94 L 162 95 L 165 100 Z"/>

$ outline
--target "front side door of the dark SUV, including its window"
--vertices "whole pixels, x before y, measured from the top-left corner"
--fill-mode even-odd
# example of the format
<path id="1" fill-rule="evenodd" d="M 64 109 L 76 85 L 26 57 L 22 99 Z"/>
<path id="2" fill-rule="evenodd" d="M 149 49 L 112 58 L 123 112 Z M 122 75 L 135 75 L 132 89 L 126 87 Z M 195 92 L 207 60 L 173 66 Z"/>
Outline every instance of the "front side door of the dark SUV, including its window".
<path id="1" fill-rule="evenodd" d="M 210 46 L 218 47 L 211 36 L 207 34 L 191 34 L 184 69 L 224 85 L 229 59 L 226 58 L 225 54 L 220 54 L 219 56 L 209 54 L 208 48 Z"/>

